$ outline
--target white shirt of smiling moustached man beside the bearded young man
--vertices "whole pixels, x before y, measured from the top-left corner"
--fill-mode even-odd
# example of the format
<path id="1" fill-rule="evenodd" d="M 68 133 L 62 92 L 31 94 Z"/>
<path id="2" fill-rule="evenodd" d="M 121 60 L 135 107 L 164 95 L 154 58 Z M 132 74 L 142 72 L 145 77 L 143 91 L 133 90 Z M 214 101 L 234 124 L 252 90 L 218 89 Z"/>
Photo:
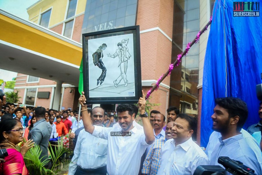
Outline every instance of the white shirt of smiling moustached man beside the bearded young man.
<path id="1" fill-rule="evenodd" d="M 208 165 L 208 157 L 192 138 L 180 145 L 174 139 L 166 141 L 160 151 L 159 175 L 194 174 L 199 165 Z"/>

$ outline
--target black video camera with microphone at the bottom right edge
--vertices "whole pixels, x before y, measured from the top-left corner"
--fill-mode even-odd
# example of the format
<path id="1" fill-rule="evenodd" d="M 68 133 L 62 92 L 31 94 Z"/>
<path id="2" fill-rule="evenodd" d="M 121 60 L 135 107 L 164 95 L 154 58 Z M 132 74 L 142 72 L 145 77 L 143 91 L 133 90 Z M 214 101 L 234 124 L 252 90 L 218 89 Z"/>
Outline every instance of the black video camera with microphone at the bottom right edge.
<path id="1" fill-rule="evenodd" d="M 229 157 L 221 156 L 218 163 L 222 164 L 225 169 L 219 165 L 199 165 L 193 175 L 223 175 L 226 171 L 234 175 L 254 175 L 254 170 L 245 166 L 238 160 L 232 160 Z"/>

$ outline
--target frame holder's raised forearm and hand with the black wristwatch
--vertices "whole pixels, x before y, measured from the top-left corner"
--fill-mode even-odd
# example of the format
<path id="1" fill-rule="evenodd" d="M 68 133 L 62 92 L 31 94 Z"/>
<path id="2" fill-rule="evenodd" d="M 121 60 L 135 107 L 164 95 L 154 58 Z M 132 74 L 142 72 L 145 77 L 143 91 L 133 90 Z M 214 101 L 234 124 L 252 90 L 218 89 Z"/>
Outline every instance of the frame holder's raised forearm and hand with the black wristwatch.
<path id="1" fill-rule="evenodd" d="M 142 94 L 143 97 L 140 97 L 138 101 L 138 108 L 139 108 L 140 115 L 143 115 L 145 113 L 145 107 L 146 107 L 146 99 L 143 90 L 142 90 Z M 151 145 L 155 141 L 153 128 L 147 117 L 142 117 L 142 122 L 143 122 L 144 133 L 146 136 L 146 143 Z"/>

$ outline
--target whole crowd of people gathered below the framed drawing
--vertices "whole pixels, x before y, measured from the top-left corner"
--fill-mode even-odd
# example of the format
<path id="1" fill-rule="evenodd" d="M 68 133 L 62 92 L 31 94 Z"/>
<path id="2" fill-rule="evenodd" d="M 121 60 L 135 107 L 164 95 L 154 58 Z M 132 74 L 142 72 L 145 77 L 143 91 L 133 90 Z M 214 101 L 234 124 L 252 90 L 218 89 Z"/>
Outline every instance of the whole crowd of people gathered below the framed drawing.
<path id="1" fill-rule="evenodd" d="M 220 165 L 218 157 L 227 156 L 262 174 L 261 120 L 247 131 L 242 127 L 248 110 L 239 98 L 215 99 L 210 117 L 214 132 L 206 148 L 192 139 L 197 119 L 170 106 L 167 118 L 157 110 L 148 116 L 143 95 L 138 105 L 119 104 L 116 111 L 100 106 L 87 108 L 84 92 L 78 111 L 56 111 L 43 107 L 15 106 L 1 101 L 0 146 L 8 156 L 1 159 L 0 174 L 29 174 L 23 161 L 25 153 L 39 145 L 42 160 L 48 157 L 49 139 L 69 134 L 74 154 L 68 175 L 167 175 L 194 174 L 199 165 Z M 143 126 L 135 118 L 141 117 Z M 167 119 L 167 120 L 166 120 Z M 26 139 L 20 152 L 16 145 Z M 260 145 L 259 145 L 260 144 Z"/>

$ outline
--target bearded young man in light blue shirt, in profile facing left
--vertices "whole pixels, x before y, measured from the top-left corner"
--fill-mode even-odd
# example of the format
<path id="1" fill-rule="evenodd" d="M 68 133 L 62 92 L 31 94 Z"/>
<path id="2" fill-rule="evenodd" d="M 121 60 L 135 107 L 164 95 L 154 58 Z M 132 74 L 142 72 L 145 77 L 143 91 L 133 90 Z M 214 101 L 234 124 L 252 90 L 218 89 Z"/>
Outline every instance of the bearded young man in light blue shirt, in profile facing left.
<path id="1" fill-rule="evenodd" d="M 217 98 L 215 103 L 214 114 L 211 116 L 213 120 L 212 129 L 220 132 L 221 137 L 219 138 L 220 143 L 215 146 L 211 154 L 209 164 L 221 165 L 217 162 L 217 157 L 227 156 L 254 169 L 255 174 L 260 174 L 261 166 L 256 154 L 247 145 L 243 134 L 240 132 L 247 119 L 247 104 L 234 97 Z"/>

